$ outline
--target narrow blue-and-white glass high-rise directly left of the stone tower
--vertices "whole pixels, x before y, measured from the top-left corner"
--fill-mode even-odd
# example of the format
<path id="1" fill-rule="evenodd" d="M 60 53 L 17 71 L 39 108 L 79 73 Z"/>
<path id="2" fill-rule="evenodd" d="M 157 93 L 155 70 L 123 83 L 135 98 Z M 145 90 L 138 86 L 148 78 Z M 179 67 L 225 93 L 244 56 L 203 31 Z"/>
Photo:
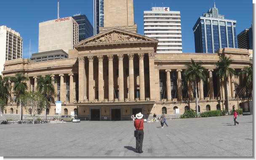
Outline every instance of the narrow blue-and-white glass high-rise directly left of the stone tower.
<path id="1" fill-rule="evenodd" d="M 99 33 L 99 26 L 104 27 L 104 0 L 93 0 L 93 34 Z"/>

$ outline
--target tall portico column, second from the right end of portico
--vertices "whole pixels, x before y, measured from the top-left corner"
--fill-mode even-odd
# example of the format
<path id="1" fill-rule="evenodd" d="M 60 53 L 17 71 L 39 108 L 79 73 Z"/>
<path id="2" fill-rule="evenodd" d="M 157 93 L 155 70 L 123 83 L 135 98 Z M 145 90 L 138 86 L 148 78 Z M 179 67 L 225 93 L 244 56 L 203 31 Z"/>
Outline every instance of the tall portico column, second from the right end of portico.
<path id="1" fill-rule="evenodd" d="M 145 100 L 144 53 L 139 53 L 139 100 Z"/>

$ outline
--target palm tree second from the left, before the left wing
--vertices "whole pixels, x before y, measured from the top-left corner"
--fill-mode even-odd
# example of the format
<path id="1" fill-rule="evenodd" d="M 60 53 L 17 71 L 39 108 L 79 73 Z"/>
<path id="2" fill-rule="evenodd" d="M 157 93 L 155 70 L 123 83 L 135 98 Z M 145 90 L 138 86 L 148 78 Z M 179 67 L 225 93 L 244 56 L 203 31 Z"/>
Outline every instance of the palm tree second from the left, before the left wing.
<path id="1" fill-rule="evenodd" d="M 28 78 L 24 76 L 24 73 L 16 73 L 15 77 L 11 77 L 10 80 L 13 84 L 13 91 L 16 93 L 16 102 L 19 100 L 19 96 L 27 91 Z M 21 100 L 20 100 L 20 120 L 22 120 Z"/>

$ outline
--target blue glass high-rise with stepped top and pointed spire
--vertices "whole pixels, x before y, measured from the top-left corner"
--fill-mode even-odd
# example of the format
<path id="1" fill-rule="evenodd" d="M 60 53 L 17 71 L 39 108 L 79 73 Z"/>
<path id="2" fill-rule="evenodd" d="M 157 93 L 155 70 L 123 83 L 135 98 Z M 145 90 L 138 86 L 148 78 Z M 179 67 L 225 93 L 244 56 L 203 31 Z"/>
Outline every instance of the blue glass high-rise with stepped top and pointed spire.
<path id="1" fill-rule="evenodd" d="M 193 27 L 196 53 L 214 53 L 219 48 L 237 48 L 236 21 L 224 19 L 218 8 L 210 8 Z"/>

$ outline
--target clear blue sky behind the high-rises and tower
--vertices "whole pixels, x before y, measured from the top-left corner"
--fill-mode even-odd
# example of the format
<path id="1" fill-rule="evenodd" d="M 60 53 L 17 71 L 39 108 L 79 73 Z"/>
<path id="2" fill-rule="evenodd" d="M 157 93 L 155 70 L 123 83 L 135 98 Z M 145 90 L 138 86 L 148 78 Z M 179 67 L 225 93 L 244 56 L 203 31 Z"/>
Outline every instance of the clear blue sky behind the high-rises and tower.
<path id="1" fill-rule="evenodd" d="M 1 0 L 0 26 L 5 25 L 18 31 L 23 38 L 23 58 L 38 52 L 38 25 L 40 22 L 59 16 L 85 14 L 93 25 L 93 0 Z M 133 0 L 134 23 L 138 33 L 144 34 L 143 11 L 151 7 L 170 7 L 170 10 L 181 12 L 182 52 L 195 52 L 193 26 L 197 19 L 216 4 L 219 14 L 225 19 L 236 20 L 236 32 L 239 34 L 251 27 L 253 20 L 252 0 Z"/>

